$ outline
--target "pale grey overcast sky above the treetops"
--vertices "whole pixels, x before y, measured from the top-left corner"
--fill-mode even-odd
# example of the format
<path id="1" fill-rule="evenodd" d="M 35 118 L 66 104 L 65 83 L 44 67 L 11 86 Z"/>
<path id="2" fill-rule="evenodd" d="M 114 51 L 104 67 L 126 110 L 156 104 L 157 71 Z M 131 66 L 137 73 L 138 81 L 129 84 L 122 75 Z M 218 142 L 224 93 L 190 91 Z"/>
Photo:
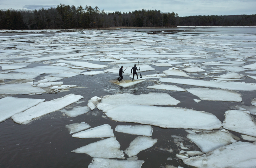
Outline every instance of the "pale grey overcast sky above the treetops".
<path id="1" fill-rule="evenodd" d="M 49 8 L 60 3 L 98 6 L 100 10 L 108 12 L 156 9 L 163 12 L 174 11 L 179 16 L 256 14 L 256 0 L 0 0 L 0 9 Z"/>

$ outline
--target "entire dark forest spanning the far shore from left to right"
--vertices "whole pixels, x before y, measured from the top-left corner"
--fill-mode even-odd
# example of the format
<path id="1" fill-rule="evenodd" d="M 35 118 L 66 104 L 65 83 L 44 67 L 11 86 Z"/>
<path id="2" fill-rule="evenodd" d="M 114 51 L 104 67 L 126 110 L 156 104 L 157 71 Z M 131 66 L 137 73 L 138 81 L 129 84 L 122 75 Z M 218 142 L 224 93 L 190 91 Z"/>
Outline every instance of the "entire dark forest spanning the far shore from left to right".
<path id="1" fill-rule="evenodd" d="M 39 10 L 0 10 L 0 29 L 79 29 L 108 27 L 252 26 L 256 15 L 188 16 L 160 10 L 106 12 L 95 6 L 70 6 Z"/>

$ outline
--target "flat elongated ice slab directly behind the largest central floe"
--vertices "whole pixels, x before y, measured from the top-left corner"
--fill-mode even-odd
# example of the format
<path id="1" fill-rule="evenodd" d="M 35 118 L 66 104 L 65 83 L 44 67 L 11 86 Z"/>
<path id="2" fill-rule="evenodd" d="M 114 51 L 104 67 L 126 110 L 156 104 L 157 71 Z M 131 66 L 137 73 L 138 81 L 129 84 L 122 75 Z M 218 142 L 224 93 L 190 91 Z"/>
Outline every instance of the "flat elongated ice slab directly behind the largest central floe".
<path id="1" fill-rule="evenodd" d="M 107 104 L 140 104 L 140 105 L 158 105 L 173 106 L 180 103 L 167 93 L 148 93 L 148 94 L 113 94 L 104 96 L 101 103 Z"/>

